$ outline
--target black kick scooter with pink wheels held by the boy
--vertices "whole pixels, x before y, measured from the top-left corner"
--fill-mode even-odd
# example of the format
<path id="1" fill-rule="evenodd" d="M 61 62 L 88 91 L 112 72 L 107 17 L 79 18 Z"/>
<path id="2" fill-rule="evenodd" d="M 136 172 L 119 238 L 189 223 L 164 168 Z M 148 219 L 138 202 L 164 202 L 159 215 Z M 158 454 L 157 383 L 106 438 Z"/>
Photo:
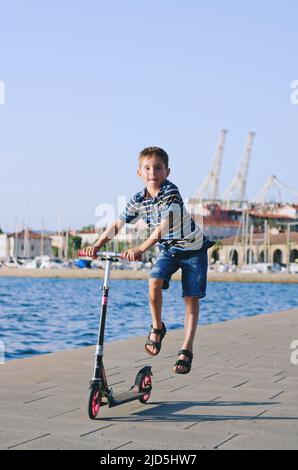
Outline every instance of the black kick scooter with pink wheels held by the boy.
<path id="1" fill-rule="evenodd" d="M 152 390 L 152 372 L 150 366 L 145 366 L 137 373 L 134 384 L 126 392 L 114 395 L 111 387 L 108 386 L 105 368 L 103 365 L 103 347 L 104 347 L 104 332 L 105 323 L 108 309 L 108 296 L 109 296 L 109 281 L 112 262 L 117 262 L 123 259 L 121 253 L 114 253 L 110 251 L 99 251 L 96 253 L 99 260 L 106 261 L 104 283 L 101 287 L 101 315 L 98 329 L 98 340 L 95 351 L 94 372 L 90 382 L 89 396 L 88 396 L 88 415 L 90 419 L 95 419 L 99 413 L 102 405 L 109 405 L 109 407 L 122 405 L 133 400 L 139 400 L 141 403 L 146 403 L 149 400 Z M 79 257 L 85 257 L 84 250 L 78 251 Z M 106 398 L 106 402 L 103 399 Z"/>

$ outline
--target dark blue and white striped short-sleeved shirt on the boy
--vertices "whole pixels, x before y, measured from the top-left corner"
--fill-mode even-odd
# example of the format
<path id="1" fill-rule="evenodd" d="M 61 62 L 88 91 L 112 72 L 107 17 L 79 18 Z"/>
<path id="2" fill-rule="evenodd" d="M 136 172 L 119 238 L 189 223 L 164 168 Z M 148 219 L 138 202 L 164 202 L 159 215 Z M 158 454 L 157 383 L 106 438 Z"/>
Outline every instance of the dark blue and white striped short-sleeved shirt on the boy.
<path id="1" fill-rule="evenodd" d="M 203 244 L 209 242 L 187 212 L 177 186 L 168 179 L 163 181 L 154 197 L 148 195 L 146 188 L 136 193 L 119 218 L 129 224 L 142 219 L 146 222 L 149 232 L 167 218 L 168 230 L 158 245 L 174 246 L 185 251 L 199 250 Z"/>

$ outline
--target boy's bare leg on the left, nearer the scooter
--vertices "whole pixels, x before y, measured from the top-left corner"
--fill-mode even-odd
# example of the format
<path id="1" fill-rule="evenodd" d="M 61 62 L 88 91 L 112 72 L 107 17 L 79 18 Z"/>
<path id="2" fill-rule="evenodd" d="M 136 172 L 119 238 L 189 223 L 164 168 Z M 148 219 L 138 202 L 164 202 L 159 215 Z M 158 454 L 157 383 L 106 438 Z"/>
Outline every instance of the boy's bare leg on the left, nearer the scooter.
<path id="1" fill-rule="evenodd" d="M 153 328 L 158 328 L 159 330 L 162 328 L 162 284 L 163 279 L 149 279 L 149 305 L 152 316 L 152 326 Z M 159 342 L 160 335 L 156 333 L 151 333 L 150 339 L 152 341 Z M 154 355 L 158 353 L 158 350 L 154 348 L 154 346 L 146 346 L 146 349 L 148 349 L 148 351 L 151 351 Z"/>

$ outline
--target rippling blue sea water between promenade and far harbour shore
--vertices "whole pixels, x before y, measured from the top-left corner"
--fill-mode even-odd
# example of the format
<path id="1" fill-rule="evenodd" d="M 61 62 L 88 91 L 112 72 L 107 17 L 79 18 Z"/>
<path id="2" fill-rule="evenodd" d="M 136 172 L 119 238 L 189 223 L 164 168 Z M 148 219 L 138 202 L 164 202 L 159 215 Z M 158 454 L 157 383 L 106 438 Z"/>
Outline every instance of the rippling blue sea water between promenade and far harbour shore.
<path id="1" fill-rule="evenodd" d="M 0 277 L 0 344 L 5 360 L 93 345 L 97 340 L 101 280 Z M 297 285 L 209 282 L 200 324 L 294 308 Z M 163 321 L 183 328 L 181 283 L 163 291 Z M 111 280 L 106 341 L 147 335 L 148 281 Z"/>

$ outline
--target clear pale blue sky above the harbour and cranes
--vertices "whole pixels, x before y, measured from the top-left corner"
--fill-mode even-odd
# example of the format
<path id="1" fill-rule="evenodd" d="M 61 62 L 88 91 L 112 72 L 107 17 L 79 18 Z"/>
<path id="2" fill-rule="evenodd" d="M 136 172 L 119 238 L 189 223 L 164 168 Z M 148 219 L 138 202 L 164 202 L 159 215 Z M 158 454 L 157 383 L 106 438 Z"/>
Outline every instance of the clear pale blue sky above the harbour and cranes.
<path id="1" fill-rule="evenodd" d="M 148 145 L 191 196 L 222 128 L 221 190 L 250 130 L 248 196 L 270 174 L 298 189 L 297 22 L 287 0 L 1 0 L 0 226 L 96 223 L 142 188 Z"/>

